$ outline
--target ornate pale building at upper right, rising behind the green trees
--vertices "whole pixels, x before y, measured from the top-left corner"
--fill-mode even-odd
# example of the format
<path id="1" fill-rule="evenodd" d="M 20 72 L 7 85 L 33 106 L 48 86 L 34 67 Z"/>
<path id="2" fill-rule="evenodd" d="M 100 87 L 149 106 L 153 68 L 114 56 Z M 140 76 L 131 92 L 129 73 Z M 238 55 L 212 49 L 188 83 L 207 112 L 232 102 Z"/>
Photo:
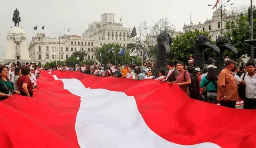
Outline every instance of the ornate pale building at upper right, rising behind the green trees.
<path id="1" fill-rule="evenodd" d="M 226 32 L 226 22 L 232 21 L 235 19 L 235 15 L 227 15 L 226 10 L 222 11 L 222 35 Z M 218 8 L 216 12 L 213 12 L 212 20 L 206 19 L 206 21 L 201 24 L 194 25 L 192 22 L 189 25 L 184 24 L 183 32 L 208 32 L 212 37 L 212 40 L 216 40 L 218 37 L 221 37 L 221 10 Z"/>

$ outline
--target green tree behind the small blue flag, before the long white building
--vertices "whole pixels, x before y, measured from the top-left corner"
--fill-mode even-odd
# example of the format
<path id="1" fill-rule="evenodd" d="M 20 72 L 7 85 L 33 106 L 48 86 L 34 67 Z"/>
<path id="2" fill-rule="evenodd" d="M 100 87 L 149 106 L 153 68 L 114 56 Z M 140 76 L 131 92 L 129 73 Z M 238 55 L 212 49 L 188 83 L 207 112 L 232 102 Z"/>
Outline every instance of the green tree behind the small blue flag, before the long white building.
<path id="1" fill-rule="evenodd" d="M 105 44 L 102 47 L 98 49 L 96 52 L 96 59 L 100 61 L 101 63 L 115 63 L 114 59 L 114 53 L 110 52 L 108 53 L 109 49 L 113 46 L 113 44 Z M 130 52 L 129 50 L 126 50 L 126 55 L 117 55 L 118 52 L 120 52 L 120 49 L 123 48 L 119 44 L 114 44 L 114 51 L 116 54 L 116 64 L 124 64 L 124 56 L 126 56 L 126 63 L 131 63 L 130 61 Z M 102 56 L 100 56 L 100 53 Z"/>

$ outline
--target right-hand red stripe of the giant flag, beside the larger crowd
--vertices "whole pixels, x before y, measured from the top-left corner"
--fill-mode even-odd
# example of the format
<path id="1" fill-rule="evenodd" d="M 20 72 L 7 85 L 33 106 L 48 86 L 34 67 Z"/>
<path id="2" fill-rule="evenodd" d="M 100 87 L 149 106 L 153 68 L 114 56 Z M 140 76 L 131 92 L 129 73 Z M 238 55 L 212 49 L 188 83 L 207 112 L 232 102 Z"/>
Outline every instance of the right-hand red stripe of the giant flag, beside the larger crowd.
<path id="1" fill-rule="evenodd" d="M 85 87 L 121 91 L 134 96 L 148 127 L 162 138 L 182 145 L 212 142 L 221 147 L 256 146 L 256 112 L 229 109 L 187 97 L 178 85 L 155 80 L 134 81 L 95 77 L 80 72 L 52 72 L 79 79 Z"/>

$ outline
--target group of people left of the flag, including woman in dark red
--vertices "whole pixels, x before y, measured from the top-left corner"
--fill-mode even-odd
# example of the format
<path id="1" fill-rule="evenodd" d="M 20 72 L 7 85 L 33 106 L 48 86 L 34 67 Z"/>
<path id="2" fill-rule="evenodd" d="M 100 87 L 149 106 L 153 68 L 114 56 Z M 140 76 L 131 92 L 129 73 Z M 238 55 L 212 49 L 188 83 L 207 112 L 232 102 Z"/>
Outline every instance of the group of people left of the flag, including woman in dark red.
<path id="1" fill-rule="evenodd" d="M 7 63 L 0 65 L 0 100 L 11 97 L 14 93 L 33 97 L 37 87 L 40 70 L 36 63 Z"/>

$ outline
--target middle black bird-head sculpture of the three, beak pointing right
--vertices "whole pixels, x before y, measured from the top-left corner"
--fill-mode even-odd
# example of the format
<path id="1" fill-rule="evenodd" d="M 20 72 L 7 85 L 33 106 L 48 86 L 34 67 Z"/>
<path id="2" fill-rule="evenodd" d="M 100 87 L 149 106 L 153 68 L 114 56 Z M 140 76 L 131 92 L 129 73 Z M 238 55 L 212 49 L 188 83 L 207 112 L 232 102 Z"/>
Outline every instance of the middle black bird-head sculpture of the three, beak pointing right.
<path id="1" fill-rule="evenodd" d="M 205 48 L 212 48 L 217 53 L 220 53 L 219 47 L 212 44 L 208 37 L 203 35 L 198 35 L 195 38 L 195 49 L 194 49 L 194 67 L 199 67 L 202 69 L 205 67 L 204 63 L 204 49 Z"/>

